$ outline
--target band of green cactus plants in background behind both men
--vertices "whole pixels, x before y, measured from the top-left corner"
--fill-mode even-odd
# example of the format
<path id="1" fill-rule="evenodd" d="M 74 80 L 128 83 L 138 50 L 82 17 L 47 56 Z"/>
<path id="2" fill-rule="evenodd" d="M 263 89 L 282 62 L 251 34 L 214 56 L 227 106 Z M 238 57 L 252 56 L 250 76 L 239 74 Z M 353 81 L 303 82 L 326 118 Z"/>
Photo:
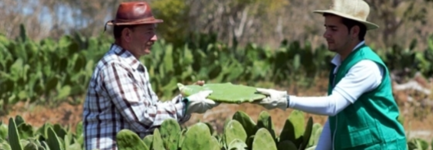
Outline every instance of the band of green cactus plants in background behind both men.
<path id="1" fill-rule="evenodd" d="M 163 2 L 158 3 L 168 7 Z M 50 105 L 67 100 L 78 104 L 81 99 L 77 97 L 85 95 L 96 63 L 112 44 L 110 38 L 83 37 L 79 33 L 65 35 L 58 41 L 50 38 L 32 41 L 24 28 L 20 35 L 15 40 L 0 35 L 3 114 L 19 101 Z M 407 77 L 416 71 L 431 76 L 433 36 L 427 41 L 429 46 L 425 50 L 417 50 L 417 42 L 413 41 L 409 48 L 394 45 L 388 50 L 375 51 L 392 71 L 403 72 Z M 313 49 L 308 41 L 284 40 L 278 49 L 253 43 L 229 47 L 216 41 L 215 34 L 196 34 L 181 46 L 160 39 L 151 54 L 140 60 L 147 67 L 152 89 L 164 101 L 179 93 L 177 83 L 191 84 L 198 80 L 265 88 L 294 83 L 312 86 L 313 79 L 326 74 L 333 55 L 324 45 Z M 245 131 L 250 135 L 253 130 Z"/>

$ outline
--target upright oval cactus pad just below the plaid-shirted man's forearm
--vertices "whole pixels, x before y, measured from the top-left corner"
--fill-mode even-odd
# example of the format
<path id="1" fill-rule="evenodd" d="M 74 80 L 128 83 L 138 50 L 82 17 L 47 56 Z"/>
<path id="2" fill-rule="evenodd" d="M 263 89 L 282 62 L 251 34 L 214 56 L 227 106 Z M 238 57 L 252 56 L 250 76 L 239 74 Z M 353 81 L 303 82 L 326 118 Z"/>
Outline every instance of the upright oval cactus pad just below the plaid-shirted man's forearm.
<path id="1" fill-rule="evenodd" d="M 165 149 L 178 149 L 178 133 L 181 132 L 181 126 L 175 119 L 164 120 L 159 128 L 161 138 Z"/>

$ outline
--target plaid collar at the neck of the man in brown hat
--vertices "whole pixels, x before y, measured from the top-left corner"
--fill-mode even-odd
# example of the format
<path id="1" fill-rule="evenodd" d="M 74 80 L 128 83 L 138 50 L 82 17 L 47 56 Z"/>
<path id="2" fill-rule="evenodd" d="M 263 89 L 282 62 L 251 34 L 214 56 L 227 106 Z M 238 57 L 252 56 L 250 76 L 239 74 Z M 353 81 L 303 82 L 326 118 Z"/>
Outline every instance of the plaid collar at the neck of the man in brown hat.
<path id="1" fill-rule="evenodd" d="M 142 65 L 140 60 L 134 57 L 131 52 L 128 50 L 120 47 L 117 44 L 112 44 L 110 51 L 118 55 L 119 57 L 123 58 L 123 61 L 125 63 L 129 64 L 134 69 L 139 69 L 139 67 Z"/>

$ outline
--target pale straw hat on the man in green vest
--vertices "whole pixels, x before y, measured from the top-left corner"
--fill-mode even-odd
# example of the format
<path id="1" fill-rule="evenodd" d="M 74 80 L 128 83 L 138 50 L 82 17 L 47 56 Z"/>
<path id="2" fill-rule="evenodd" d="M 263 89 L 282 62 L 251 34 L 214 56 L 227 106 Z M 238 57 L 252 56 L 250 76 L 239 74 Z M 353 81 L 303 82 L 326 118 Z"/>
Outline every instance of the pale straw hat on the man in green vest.
<path id="1" fill-rule="evenodd" d="M 362 0 L 333 0 L 328 10 L 317 10 L 313 13 L 334 14 L 343 18 L 359 21 L 363 23 L 367 30 L 377 29 L 378 25 L 368 22 L 367 17 L 370 13 L 370 7 Z"/>

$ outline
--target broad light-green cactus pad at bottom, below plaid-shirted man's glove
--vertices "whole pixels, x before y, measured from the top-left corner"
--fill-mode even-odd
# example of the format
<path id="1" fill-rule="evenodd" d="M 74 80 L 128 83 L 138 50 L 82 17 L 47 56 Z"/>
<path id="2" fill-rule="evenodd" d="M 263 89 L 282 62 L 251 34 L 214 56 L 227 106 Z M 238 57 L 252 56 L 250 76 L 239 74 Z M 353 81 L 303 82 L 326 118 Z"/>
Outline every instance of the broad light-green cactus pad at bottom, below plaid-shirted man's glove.
<path id="1" fill-rule="evenodd" d="M 200 138 L 198 138 L 200 137 Z M 209 149 L 219 150 L 218 140 L 212 137 L 209 132 L 209 127 L 202 122 L 198 122 L 191 126 L 185 134 L 185 139 L 182 143 L 182 150 Z"/>

